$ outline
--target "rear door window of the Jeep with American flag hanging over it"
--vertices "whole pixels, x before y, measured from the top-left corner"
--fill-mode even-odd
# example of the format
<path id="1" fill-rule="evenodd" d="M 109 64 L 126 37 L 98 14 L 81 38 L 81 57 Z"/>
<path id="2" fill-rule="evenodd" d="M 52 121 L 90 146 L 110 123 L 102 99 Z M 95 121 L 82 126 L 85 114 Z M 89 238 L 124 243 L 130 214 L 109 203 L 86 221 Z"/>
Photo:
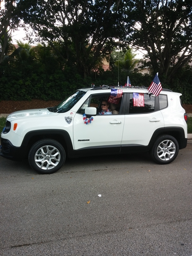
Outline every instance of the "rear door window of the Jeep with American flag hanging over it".
<path id="1" fill-rule="evenodd" d="M 150 113 L 155 110 L 155 96 L 153 94 L 130 94 L 129 114 Z"/>

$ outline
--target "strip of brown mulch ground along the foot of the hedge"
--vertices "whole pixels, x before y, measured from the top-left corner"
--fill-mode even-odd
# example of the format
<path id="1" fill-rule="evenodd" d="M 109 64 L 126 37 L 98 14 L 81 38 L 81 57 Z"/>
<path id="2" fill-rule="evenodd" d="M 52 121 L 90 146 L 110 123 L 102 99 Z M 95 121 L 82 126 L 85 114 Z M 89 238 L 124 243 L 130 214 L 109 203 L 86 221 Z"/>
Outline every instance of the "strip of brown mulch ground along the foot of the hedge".
<path id="1" fill-rule="evenodd" d="M 60 101 L 0 101 L 0 114 L 10 114 L 14 111 L 54 107 L 59 104 Z M 183 108 L 187 114 L 192 113 L 192 105 L 183 104 Z"/>

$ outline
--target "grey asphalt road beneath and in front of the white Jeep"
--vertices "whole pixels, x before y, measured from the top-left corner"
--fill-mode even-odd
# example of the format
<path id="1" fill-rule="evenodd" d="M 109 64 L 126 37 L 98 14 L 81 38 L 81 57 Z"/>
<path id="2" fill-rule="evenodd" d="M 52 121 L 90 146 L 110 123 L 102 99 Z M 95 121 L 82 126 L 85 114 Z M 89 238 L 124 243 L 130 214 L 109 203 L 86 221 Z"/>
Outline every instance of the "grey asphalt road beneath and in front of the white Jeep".
<path id="1" fill-rule="evenodd" d="M 192 256 L 192 144 L 170 165 L 77 158 L 50 175 L 0 158 L 0 195 L 1 256 Z"/>

